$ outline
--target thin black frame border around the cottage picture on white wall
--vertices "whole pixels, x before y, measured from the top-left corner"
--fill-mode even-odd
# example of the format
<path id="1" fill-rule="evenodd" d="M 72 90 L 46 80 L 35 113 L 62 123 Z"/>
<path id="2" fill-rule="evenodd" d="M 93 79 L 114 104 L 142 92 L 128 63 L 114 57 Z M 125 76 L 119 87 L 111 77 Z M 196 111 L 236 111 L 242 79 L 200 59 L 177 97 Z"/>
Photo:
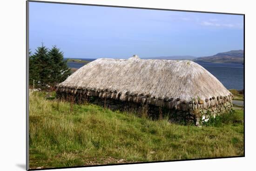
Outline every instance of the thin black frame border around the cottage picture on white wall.
<path id="1" fill-rule="evenodd" d="M 66 4 L 66 5 L 82 5 L 82 6 L 103 6 L 103 7 L 118 7 L 118 8 L 133 8 L 133 9 L 148 9 L 148 10 L 162 10 L 162 11 L 177 11 L 177 12 L 191 12 L 191 13 L 214 13 L 214 14 L 229 14 L 229 15 L 243 15 L 243 155 L 242 156 L 228 156 L 228 157 L 216 157 L 216 158 L 191 158 L 181 160 L 163 160 L 163 161 L 150 161 L 150 162 L 134 162 L 134 163 L 119 163 L 119 164 L 105 164 L 105 165 L 82 165 L 82 166 L 69 166 L 69 167 L 52 167 L 41 169 L 29 169 L 29 2 L 38 3 L 52 3 L 52 4 Z M 98 166 L 111 166 L 111 165 L 132 165 L 132 164 L 147 164 L 147 163 L 163 163 L 174 161 L 192 161 L 192 160 L 206 160 L 206 159 L 220 159 L 220 158 L 241 158 L 245 157 L 245 14 L 243 13 L 220 13 L 220 12 L 206 12 L 206 11 L 190 11 L 190 10 L 176 10 L 176 9 L 162 9 L 162 8 L 149 8 L 149 7 L 135 7 L 135 6 L 112 6 L 112 5 L 99 5 L 99 4 L 82 4 L 71 2 L 57 2 L 57 1 L 40 1 L 40 0 L 27 0 L 26 1 L 26 170 L 27 171 L 39 171 L 49 169 L 67 169 L 67 168 L 81 168 L 81 167 L 98 167 Z"/>

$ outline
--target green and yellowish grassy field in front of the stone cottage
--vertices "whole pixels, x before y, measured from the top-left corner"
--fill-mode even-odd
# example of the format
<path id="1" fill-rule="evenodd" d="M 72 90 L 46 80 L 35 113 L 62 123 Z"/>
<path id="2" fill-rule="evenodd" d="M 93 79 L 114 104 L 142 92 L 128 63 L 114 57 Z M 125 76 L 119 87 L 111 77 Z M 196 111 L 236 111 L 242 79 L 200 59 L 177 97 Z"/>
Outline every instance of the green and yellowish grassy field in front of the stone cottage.
<path id="1" fill-rule="evenodd" d="M 214 127 L 170 124 L 85 104 L 29 96 L 30 168 L 241 156 L 243 111 Z M 214 123 L 214 121 L 213 121 Z"/>

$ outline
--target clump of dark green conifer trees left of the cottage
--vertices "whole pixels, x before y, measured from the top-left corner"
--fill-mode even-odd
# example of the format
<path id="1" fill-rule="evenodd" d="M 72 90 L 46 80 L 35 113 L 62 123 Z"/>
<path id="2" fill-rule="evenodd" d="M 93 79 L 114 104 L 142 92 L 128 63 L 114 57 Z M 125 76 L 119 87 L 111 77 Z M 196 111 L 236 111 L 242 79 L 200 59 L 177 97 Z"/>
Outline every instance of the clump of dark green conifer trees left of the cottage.
<path id="1" fill-rule="evenodd" d="M 63 60 L 63 52 L 56 46 L 48 49 L 42 44 L 34 54 L 29 52 L 29 85 L 44 90 L 53 90 L 54 86 L 63 82 L 69 75 L 67 61 Z"/>

